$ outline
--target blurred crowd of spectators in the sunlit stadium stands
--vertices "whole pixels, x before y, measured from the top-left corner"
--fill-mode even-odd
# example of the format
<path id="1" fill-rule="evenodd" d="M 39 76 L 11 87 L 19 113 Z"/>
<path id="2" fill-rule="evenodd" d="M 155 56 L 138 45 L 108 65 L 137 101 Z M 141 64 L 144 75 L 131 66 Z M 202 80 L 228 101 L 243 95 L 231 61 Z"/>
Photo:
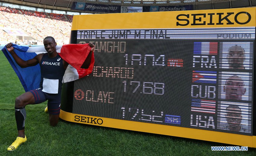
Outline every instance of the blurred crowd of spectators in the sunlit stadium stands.
<path id="1" fill-rule="evenodd" d="M 42 44 L 46 36 L 55 38 L 57 44 L 67 44 L 73 16 L 64 14 L 44 13 L 31 10 L 14 9 L 0 6 L 0 44 L 13 42 L 17 44 Z M 19 29 L 29 39 L 21 39 L 10 35 L 4 28 Z M 25 37 L 26 38 L 26 37 Z"/>

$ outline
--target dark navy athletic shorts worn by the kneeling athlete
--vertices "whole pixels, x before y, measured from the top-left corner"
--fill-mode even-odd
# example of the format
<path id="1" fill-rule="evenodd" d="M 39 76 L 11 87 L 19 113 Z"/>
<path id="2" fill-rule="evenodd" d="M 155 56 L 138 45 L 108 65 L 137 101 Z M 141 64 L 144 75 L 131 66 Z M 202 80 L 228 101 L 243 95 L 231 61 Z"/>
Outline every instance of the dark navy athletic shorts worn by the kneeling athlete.
<path id="1" fill-rule="evenodd" d="M 61 110 L 61 93 L 50 94 L 42 91 L 41 88 L 30 90 L 35 98 L 35 104 L 39 104 L 48 100 L 47 107 L 49 114 L 58 115 Z M 60 91 L 59 91 L 60 92 Z"/>

